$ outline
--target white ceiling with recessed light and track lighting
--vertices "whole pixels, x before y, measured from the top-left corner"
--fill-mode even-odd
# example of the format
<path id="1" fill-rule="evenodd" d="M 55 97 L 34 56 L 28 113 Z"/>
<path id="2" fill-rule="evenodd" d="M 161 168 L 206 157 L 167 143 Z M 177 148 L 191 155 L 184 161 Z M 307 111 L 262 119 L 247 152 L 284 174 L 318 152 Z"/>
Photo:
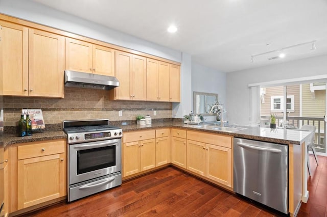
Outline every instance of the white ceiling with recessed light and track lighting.
<path id="1" fill-rule="evenodd" d="M 326 0 L 32 0 L 192 55 L 231 72 L 327 54 Z M 178 31 L 167 32 L 174 23 Z M 271 50 L 287 57 L 269 61 Z M 266 44 L 271 43 L 271 46 Z"/>

